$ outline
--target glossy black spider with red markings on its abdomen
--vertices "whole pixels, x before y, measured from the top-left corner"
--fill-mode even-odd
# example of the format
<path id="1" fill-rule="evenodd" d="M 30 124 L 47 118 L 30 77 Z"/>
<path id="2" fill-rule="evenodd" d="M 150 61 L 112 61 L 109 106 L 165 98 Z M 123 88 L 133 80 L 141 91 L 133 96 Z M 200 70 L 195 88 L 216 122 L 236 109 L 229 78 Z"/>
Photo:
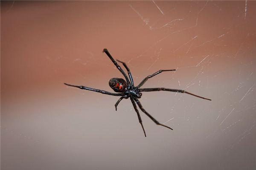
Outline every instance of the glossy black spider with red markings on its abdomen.
<path id="1" fill-rule="evenodd" d="M 122 96 L 122 97 L 120 97 L 120 99 L 118 99 L 118 101 L 115 104 L 116 111 L 117 111 L 117 105 L 119 104 L 119 102 L 121 102 L 122 99 L 130 98 L 131 99 L 131 103 L 132 103 L 135 111 L 137 112 L 137 115 L 138 115 L 138 118 L 139 118 L 139 122 L 140 122 L 140 125 L 141 125 L 141 127 L 142 127 L 142 129 L 144 131 L 145 137 L 146 137 L 146 133 L 145 133 L 145 130 L 144 130 L 144 127 L 143 127 L 143 124 L 142 124 L 142 120 L 140 118 L 140 113 L 139 113 L 139 111 L 137 109 L 136 103 L 139 106 L 140 110 L 143 111 L 157 125 L 161 125 L 161 126 L 167 127 L 167 128 L 169 128 L 171 130 L 173 130 L 173 129 L 171 127 L 168 127 L 166 125 L 163 125 L 163 124 L 159 123 L 156 119 L 154 119 L 154 117 L 152 117 L 148 112 L 145 111 L 145 109 L 141 105 L 140 101 L 138 100 L 138 98 L 140 98 L 142 96 L 141 92 L 143 92 L 143 91 L 173 91 L 173 92 L 178 92 L 178 93 L 190 94 L 190 95 L 193 95 L 193 96 L 196 96 L 196 97 L 200 97 L 202 99 L 207 99 L 207 98 L 204 98 L 204 97 L 201 97 L 201 96 L 189 93 L 189 92 L 184 91 L 184 90 L 179 90 L 179 89 L 170 89 L 170 88 L 140 88 L 151 77 L 154 77 L 155 75 L 160 74 L 163 71 L 175 71 L 175 69 L 173 69 L 173 70 L 159 70 L 156 73 L 151 74 L 148 77 L 145 77 L 145 79 L 143 79 L 142 82 L 140 82 L 139 85 L 134 87 L 134 82 L 133 82 L 133 79 L 132 79 L 132 76 L 131 76 L 131 72 L 130 72 L 129 68 L 127 67 L 127 65 L 125 64 L 125 62 L 117 60 L 118 62 L 121 62 L 122 65 L 126 68 L 130 80 L 128 79 L 128 77 L 125 74 L 125 72 L 122 70 L 120 65 L 118 65 L 117 62 L 113 59 L 113 57 L 111 56 L 111 54 L 108 52 L 108 50 L 106 48 L 103 50 L 103 52 L 105 52 L 108 55 L 108 57 L 111 59 L 111 61 L 114 63 L 114 65 L 116 65 L 116 68 L 125 77 L 126 81 L 124 79 L 121 79 L 121 78 L 113 78 L 113 79 L 109 80 L 109 86 L 115 92 L 117 92 L 117 93 L 111 93 L 111 92 L 103 91 L 103 90 L 99 90 L 99 89 L 88 88 L 88 87 L 85 87 L 85 86 L 82 86 L 82 85 L 70 85 L 70 84 L 67 84 L 67 83 L 64 83 L 64 84 L 68 85 L 68 86 L 76 87 L 76 88 L 81 88 L 81 89 L 84 89 L 84 90 L 95 91 L 95 92 L 99 92 L 99 93 L 102 93 L 102 94 L 108 94 L 108 95 L 111 95 L 111 96 Z M 207 99 L 207 100 L 211 100 L 211 99 Z"/>

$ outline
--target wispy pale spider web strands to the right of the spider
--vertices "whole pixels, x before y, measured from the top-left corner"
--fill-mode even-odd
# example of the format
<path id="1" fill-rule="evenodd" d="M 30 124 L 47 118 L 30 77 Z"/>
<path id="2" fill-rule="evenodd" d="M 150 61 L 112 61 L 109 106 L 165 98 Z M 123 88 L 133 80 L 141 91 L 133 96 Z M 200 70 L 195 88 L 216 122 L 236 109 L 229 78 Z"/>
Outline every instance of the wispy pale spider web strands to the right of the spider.
<path id="1" fill-rule="evenodd" d="M 175 85 L 176 88 L 186 89 L 186 91 L 194 90 L 197 94 L 201 93 L 200 95 L 205 93 L 210 95 L 213 101 L 210 104 L 200 101 L 200 104 L 200 102 L 195 103 L 197 99 L 186 96 L 189 100 L 185 101 L 185 96 L 175 94 L 175 99 L 172 100 L 174 103 L 165 102 L 169 105 L 169 114 L 172 116 L 166 119 L 164 124 L 178 126 L 186 124 L 191 131 L 194 131 L 195 120 L 204 119 L 209 126 L 205 130 L 205 136 L 201 136 L 202 139 L 211 142 L 221 136 L 225 144 L 224 150 L 229 154 L 234 147 L 241 147 L 241 143 L 247 136 L 255 137 L 252 134 L 256 123 L 254 114 L 256 79 L 253 76 L 255 33 L 250 30 L 250 23 L 246 20 L 248 2 L 244 1 L 243 6 L 241 2 L 237 4 L 238 6 L 235 7 L 237 11 L 229 10 L 220 2 L 189 2 L 186 5 L 182 4 L 183 9 L 186 10 L 180 11 L 179 15 L 174 15 L 175 11 L 181 9 L 177 2 L 173 2 L 172 7 L 166 10 L 157 5 L 162 4 L 164 8 L 163 2 L 152 2 L 159 12 L 157 20 L 150 20 L 148 11 L 140 6 L 136 7 L 136 3 L 129 6 L 143 21 L 145 28 L 152 32 L 164 32 L 163 36 L 157 37 L 152 45 L 130 61 L 133 59 L 143 61 L 145 58 L 150 58 L 147 60 L 151 61 L 148 63 L 147 70 L 151 71 L 152 68 L 161 67 L 156 65 L 160 60 L 165 60 L 163 57 L 172 58 L 169 64 L 175 65 L 177 71 L 172 74 L 171 81 L 162 81 L 161 84 L 169 87 Z M 219 26 L 201 21 L 210 17 L 209 10 L 219 19 Z M 236 16 L 232 16 L 231 13 Z M 228 23 L 227 20 L 232 22 Z M 211 28 L 205 26 L 207 24 Z M 248 26 L 246 30 L 244 26 Z M 202 33 L 200 32 L 202 29 L 210 30 L 203 30 Z M 235 34 L 239 35 L 234 37 Z M 175 37 L 181 38 L 177 40 Z M 170 45 L 168 49 L 166 44 Z M 163 51 L 168 51 L 169 54 L 163 54 Z M 163 79 L 166 80 L 166 78 Z M 216 94 L 212 91 L 216 91 Z M 183 109 L 177 108 L 180 102 L 186 103 Z M 163 105 L 162 100 L 158 107 L 160 105 Z M 191 111 L 198 105 L 201 111 L 192 115 Z M 202 105 L 207 105 L 211 110 Z M 183 110 L 183 115 L 180 115 L 180 110 L 181 112 Z M 198 128 L 199 126 L 201 125 L 198 125 Z"/>

